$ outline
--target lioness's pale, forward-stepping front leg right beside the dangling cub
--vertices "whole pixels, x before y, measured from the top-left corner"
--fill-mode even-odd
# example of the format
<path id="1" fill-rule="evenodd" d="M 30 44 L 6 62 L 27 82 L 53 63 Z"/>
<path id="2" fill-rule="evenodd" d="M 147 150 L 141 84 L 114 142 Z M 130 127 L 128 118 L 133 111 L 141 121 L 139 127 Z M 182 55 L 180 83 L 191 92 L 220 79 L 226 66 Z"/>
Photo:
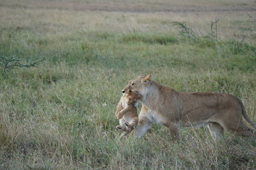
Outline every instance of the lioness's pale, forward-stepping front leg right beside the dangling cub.
<path id="1" fill-rule="evenodd" d="M 150 129 L 152 125 L 152 122 L 148 120 L 147 117 L 139 117 L 139 122 L 137 127 L 135 128 L 135 135 L 138 136 L 138 138 L 141 138 L 145 134 L 145 132 Z"/>

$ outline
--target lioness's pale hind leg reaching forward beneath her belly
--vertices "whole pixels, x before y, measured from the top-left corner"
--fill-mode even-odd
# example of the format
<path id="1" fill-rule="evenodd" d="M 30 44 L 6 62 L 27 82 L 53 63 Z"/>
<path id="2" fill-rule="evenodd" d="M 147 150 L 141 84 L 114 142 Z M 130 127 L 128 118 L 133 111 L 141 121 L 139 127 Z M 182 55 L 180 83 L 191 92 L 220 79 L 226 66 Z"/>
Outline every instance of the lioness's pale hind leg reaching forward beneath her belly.
<path id="1" fill-rule="evenodd" d="M 216 141 L 220 141 L 224 134 L 223 127 L 215 122 L 209 123 L 208 128 L 211 132 L 212 139 Z"/>

